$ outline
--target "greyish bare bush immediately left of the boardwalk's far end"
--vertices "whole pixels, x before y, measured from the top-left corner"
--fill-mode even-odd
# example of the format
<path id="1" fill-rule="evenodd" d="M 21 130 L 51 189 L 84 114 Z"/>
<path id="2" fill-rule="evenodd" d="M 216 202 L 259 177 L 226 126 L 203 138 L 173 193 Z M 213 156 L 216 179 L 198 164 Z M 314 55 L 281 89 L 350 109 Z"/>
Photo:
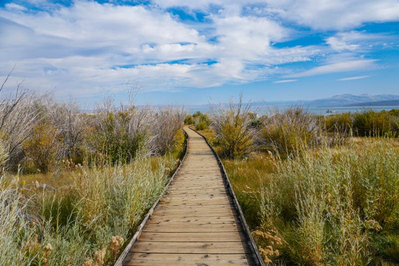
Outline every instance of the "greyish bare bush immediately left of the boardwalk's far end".
<path id="1" fill-rule="evenodd" d="M 184 110 L 179 106 L 159 108 L 154 117 L 153 135 L 156 153 L 166 154 L 175 144 L 175 136 L 184 122 Z"/>

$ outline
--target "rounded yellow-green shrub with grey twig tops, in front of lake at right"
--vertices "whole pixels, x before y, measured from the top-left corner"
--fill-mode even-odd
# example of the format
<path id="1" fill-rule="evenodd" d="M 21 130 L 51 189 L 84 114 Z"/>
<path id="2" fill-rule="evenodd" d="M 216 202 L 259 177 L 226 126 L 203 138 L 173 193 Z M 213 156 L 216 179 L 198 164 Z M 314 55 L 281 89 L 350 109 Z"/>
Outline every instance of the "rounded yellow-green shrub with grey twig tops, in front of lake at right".
<path id="1" fill-rule="evenodd" d="M 317 117 L 301 106 L 278 109 L 264 120 L 263 146 L 280 154 L 292 155 L 301 149 L 321 143 L 321 127 Z"/>

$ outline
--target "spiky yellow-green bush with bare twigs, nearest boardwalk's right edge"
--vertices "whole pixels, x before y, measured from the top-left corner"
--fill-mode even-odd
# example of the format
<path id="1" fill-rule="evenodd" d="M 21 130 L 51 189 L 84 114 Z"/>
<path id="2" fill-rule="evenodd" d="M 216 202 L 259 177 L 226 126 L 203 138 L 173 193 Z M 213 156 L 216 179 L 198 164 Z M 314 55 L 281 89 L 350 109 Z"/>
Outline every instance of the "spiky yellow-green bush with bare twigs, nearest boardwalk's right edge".
<path id="1" fill-rule="evenodd" d="M 227 158 L 240 158 L 254 149 L 256 131 L 251 126 L 250 104 L 242 104 L 242 94 L 238 103 L 210 105 L 212 127 L 220 145 L 221 155 Z"/>

